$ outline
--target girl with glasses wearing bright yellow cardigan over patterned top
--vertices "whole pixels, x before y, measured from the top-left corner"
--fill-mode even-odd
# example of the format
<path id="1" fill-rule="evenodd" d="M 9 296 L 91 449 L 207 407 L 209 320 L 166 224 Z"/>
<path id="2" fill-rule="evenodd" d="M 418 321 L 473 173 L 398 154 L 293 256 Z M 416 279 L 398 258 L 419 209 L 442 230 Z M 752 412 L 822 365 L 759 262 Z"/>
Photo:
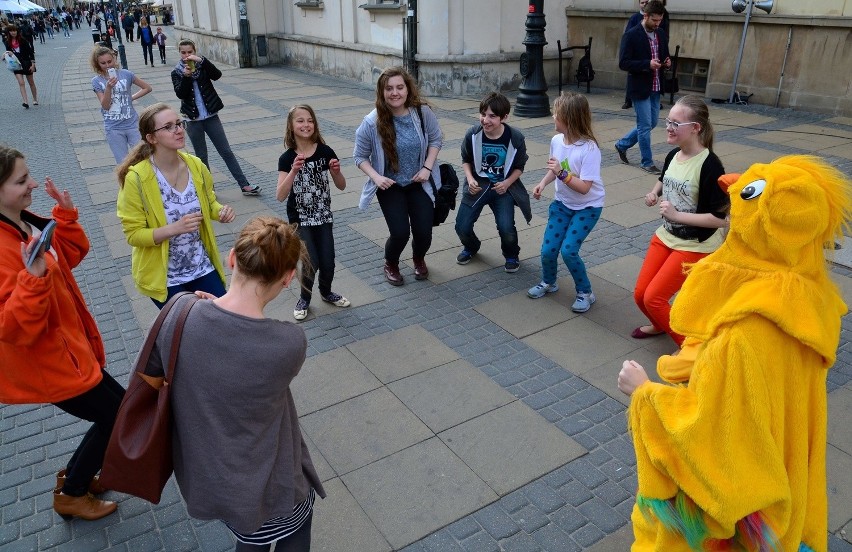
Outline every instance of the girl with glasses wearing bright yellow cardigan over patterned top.
<path id="1" fill-rule="evenodd" d="M 133 247 L 136 289 L 162 308 L 180 291 L 225 293 L 212 220 L 234 210 L 216 200 L 210 171 L 184 147 L 183 120 L 164 103 L 139 116 L 142 141 L 119 165 L 118 218 Z"/>

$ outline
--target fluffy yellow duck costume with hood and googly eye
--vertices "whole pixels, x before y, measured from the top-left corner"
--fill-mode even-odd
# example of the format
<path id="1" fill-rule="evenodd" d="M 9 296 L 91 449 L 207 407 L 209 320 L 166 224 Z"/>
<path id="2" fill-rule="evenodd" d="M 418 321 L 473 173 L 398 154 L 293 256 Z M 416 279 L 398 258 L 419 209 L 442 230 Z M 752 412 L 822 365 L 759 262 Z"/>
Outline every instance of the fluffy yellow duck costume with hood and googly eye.
<path id="1" fill-rule="evenodd" d="M 848 224 L 850 186 L 817 158 L 787 156 L 729 188 L 725 243 L 672 308 L 684 356 L 658 364 L 688 383 L 632 395 L 632 550 L 827 549 L 826 375 L 847 308 L 824 245 Z"/>

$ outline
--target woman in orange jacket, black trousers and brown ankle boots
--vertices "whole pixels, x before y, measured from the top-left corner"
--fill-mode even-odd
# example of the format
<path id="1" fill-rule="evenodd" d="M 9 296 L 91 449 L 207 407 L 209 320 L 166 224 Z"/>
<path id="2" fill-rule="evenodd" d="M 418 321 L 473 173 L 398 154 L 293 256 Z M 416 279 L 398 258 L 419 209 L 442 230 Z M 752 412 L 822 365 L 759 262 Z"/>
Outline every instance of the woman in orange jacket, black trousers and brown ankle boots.
<path id="1" fill-rule="evenodd" d="M 49 177 L 55 232 L 49 249 L 27 263 L 50 222 L 26 210 L 36 188 L 23 154 L 0 145 L 0 402 L 53 403 L 93 422 L 57 474 L 53 509 L 65 518 L 99 519 L 116 509 L 93 494 L 105 491 L 96 474 L 124 388 L 103 370 L 103 342 L 71 274 L 89 240 L 71 196 Z"/>

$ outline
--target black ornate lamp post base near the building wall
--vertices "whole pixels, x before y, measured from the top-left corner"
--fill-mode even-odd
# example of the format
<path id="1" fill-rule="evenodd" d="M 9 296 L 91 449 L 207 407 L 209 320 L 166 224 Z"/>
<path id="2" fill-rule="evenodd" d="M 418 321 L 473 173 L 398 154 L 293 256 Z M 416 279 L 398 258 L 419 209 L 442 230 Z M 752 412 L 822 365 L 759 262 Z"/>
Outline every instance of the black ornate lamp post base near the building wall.
<path id="1" fill-rule="evenodd" d="M 515 115 L 519 117 L 547 117 L 550 115 L 550 100 L 547 97 L 547 82 L 544 80 L 544 0 L 529 0 L 527 12 L 527 35 L 524 44 L 527 51 L 521 54 L 521 76 L 524 82 L 515 102 Z"/>

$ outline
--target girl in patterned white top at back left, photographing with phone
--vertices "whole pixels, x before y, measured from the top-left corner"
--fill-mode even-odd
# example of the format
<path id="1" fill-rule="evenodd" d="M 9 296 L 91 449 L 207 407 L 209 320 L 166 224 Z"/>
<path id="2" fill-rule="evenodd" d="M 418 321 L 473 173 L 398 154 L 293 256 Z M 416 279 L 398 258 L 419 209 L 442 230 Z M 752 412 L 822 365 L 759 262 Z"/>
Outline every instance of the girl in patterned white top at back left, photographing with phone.
<path id="1" fill-rule="evenodd" d="M 115 50 L 106 46 L 95 46 L 89 63 L 95 72 L 92 90 L 101 105 L 107 144 L 115 162 L 121 163 L 130 148 L 141 139 L 139 115 L 133 109 L 133 100 L 149 93 L 151 85 L 127 69 L 120 69 L 115 60 Z M 140 90 L 131 94 L 134 84 Z"/>

